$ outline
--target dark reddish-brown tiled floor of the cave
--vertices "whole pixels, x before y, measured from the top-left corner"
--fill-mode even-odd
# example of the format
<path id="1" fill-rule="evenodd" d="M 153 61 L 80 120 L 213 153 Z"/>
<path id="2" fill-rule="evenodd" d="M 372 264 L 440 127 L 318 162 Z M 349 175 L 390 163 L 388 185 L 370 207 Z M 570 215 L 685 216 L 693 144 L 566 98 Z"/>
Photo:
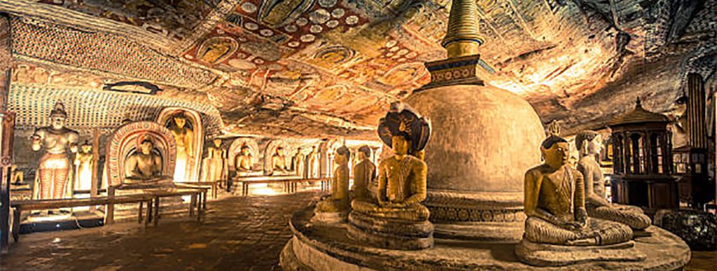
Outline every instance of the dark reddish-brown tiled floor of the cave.
<path id="1" fill-rule="evenodd" d="M 209 202 L 204 222 L 163 219 L 67 232 L 24 234 L 0 270 L 280 270 L 288 220 L 318 191 Z M 694 252 L 685 270 L 717 270 L 717 252 Z"/>

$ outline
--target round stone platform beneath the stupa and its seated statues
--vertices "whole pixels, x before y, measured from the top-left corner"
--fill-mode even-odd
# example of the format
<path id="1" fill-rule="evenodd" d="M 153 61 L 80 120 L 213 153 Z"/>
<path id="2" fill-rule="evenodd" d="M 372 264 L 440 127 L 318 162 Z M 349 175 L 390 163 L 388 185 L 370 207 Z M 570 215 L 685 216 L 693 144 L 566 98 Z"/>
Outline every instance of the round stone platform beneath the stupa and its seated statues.
<path id="1" fill-rule="evenodd" d="M 447 239 L 435 239 L 434 247 L 417 251 L 379 249 L 349 238 L 347 224 L 311 224 L 312 210 L 298 211 L 290 220 L 294 237 L 280 255 L 284 270 L 679 270 L 690 261 L 687 244 L 658 227 L 635 238 L 635 249 L 645 255 L 637 262 L 534 267 L 518 260 L 515 243 Z"/>

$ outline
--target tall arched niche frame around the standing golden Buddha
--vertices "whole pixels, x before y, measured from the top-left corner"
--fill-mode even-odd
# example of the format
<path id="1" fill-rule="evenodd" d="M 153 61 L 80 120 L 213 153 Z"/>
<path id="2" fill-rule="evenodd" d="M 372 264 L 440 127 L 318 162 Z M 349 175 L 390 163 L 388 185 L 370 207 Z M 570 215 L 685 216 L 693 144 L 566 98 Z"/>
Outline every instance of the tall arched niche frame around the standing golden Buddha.
<path id="1" fill-rule="evenodd" d="M 204 150 L 204 126 L 201 123 L 201 115 L 194 110 L 188 108 L 168 107 L 164 108 L 157 115 L 157 123 L 165 128 L 171 128 L 174 124 L 174 116 L 184 115 L 186 118 L 186 127 L 191 128 L 194 134 L 191 142 L 193 150 L 186 163 L 186 173 L 184 181 L 199 181 L 199 169 L 201 168 L 202 151 Z M 176 179 L 176 178 L 175 178 Z M 177 181 L 177 180 L 175 180 Z"/>

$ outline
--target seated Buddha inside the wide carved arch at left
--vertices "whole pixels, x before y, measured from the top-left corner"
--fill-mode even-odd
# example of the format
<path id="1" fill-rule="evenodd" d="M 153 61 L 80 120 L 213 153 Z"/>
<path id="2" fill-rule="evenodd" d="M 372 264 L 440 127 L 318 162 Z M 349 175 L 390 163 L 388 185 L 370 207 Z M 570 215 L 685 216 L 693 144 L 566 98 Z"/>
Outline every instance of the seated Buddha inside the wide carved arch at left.
<path id="1" fill-rule="evenodd" d="M 151 183 L 166 179 L 162 174 L 162 157 L 153 151 L 154 143 L 144 138 L 139 148 L 125 161 L 125 179 L 136 180 L 138 183 Z M 131 182 L 131 181 L 130 181 Z"/>

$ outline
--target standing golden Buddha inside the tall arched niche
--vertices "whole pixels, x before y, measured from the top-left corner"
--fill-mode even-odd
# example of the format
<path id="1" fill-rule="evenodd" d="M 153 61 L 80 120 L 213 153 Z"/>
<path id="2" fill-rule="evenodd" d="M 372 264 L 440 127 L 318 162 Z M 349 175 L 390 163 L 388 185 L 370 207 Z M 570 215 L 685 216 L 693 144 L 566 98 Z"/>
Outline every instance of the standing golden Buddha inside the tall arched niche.
<path id="1" fill-rule="evenodd" d="M 174 166 L 174 181 L 190 181 L 191 168 L 194 168 L 194 131 L 186 125 L 184 114 L 175 115 L 174 125 L 169 130 L 176 141 L 176 164 Z"/>

